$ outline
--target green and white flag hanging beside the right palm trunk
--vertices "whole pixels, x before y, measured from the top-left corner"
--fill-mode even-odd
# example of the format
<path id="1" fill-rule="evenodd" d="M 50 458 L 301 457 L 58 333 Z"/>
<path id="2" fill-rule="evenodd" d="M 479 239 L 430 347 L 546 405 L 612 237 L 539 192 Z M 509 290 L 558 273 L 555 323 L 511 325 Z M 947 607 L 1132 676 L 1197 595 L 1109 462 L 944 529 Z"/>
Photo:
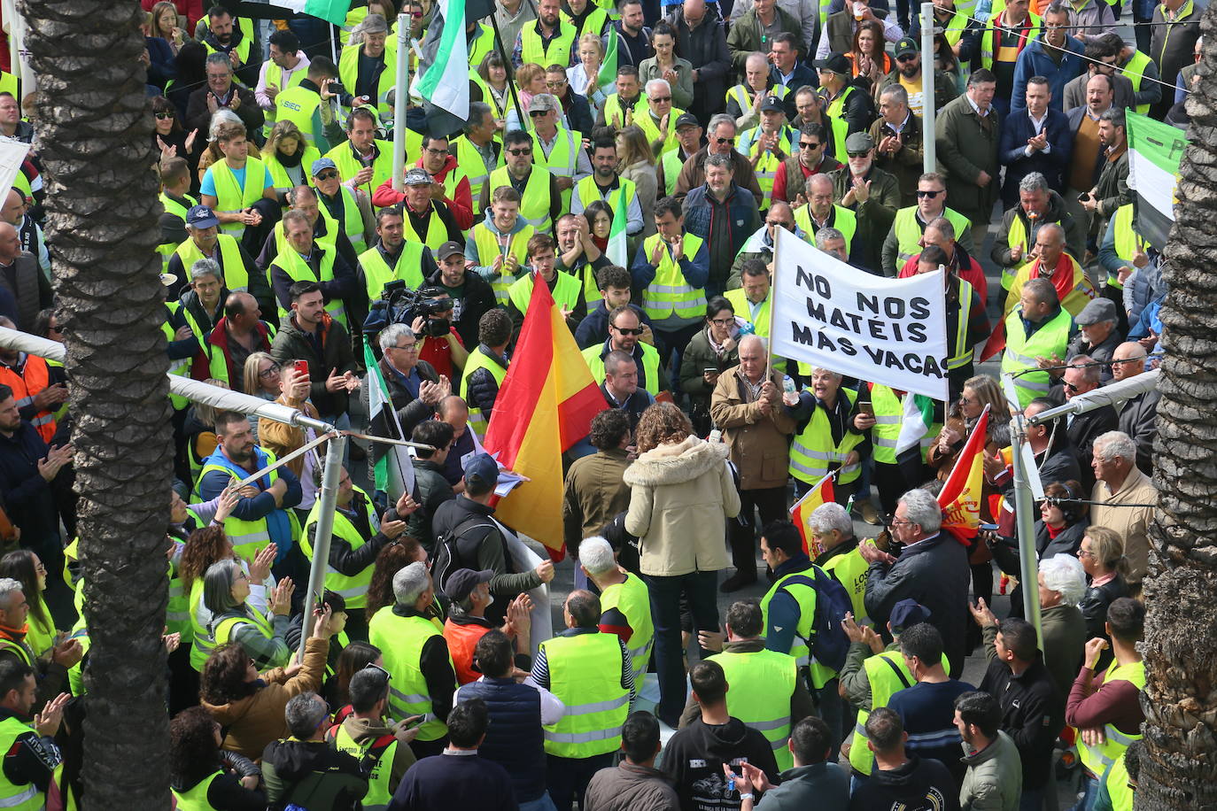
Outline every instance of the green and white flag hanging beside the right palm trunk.
<path id="1" fill-rule="evenodd" d="M 1179 160 L 1187 134 L 1170 124 L 1128 111 L 1128 187 L 1133 192 L 1137 233 L 1161 250 L 1174 223 Z"/>

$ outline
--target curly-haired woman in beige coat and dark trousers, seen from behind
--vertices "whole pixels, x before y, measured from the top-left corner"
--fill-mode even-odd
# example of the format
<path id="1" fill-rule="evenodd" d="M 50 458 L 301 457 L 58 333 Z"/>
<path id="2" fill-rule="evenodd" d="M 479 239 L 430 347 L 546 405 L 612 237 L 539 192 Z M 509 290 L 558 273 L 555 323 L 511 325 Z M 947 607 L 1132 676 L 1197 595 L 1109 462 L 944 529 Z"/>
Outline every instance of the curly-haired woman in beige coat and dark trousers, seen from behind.
<path id="1" fill-rule="evenodd" d="M 634 443 L 639 456 L 622 479 L 630 489 L 626 531 L 639 539 L 651 595 L 660 674 L 655 714 L 675 727 L 685 704 L 680 596 L 689 598 L 695 631 L 718 630 L 716 585 L 729 564 L 727 519 L 739 514 L 740 494 L 727 445 L 695 435 L 689 417 L 671 402 L 643 412 Z"/>

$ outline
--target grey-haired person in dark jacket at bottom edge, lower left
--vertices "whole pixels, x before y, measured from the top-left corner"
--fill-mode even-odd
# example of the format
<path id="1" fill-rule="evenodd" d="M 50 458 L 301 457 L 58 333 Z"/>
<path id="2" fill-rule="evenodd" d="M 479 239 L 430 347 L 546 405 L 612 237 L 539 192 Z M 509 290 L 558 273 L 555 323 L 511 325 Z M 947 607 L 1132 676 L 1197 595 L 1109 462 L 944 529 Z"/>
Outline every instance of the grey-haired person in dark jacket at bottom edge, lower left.
<path id="1" fill-rule="evenodd" d="M 271 740 L 262 754 L 270 807 L 302 802 L 333 811 L 363 807 L 368 777 L 359 760 L 326 743 L 329 715 L 325 699 L 312 691 L 288 699 L 284 720 L 291 737 Z"/>

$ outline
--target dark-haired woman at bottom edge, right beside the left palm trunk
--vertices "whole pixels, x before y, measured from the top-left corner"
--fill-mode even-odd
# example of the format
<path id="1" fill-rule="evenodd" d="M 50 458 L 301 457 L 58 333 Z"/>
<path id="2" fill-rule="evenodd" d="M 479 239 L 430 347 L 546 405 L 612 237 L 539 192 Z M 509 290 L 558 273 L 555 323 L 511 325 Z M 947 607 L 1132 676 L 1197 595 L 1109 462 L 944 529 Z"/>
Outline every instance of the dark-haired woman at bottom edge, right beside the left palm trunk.
<path id="1" fill-rule="evenodd" d="M 220 749 L 220 725 L 192 706 L 169 721 L 169 789 L 179 809 L 262 811 L 262 772 L 248 758 Z"/>

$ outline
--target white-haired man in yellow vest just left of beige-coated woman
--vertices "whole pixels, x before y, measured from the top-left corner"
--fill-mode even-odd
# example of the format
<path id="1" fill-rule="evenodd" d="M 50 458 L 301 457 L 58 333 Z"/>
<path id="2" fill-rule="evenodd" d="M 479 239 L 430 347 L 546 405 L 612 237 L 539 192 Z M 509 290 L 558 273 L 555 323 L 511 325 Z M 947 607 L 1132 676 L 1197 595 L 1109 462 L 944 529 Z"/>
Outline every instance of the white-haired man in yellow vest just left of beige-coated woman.
<path id="1" fill-rule="evenodd" d="M 600 630 L 616 633 L 626 643 L 641 685 L 655 644 L 650 592 L 643 579 L 617 565 L 617 553 L 599 535 L 579 544 L 579 568 L 600 590 Z"/>

